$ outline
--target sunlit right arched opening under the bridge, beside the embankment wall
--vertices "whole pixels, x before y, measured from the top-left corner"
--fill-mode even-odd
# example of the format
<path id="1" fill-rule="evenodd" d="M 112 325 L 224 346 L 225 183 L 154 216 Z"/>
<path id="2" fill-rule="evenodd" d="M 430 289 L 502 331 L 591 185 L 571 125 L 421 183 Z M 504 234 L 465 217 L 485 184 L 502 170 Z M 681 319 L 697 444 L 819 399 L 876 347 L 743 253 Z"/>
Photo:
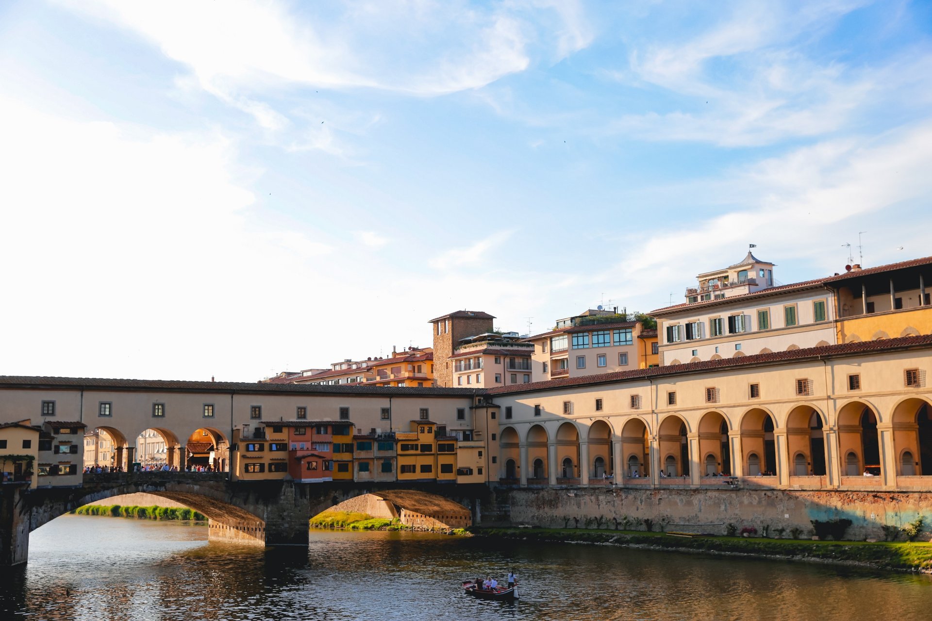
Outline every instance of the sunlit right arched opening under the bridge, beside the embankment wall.
<path id="1" fill-rule="evenodd" d="M 357 522 L 386 520 L 375 522 L 383 526 L 387 525 L 387 520 L 397 520 L 421 530 L 465 528 L 473 524 L 469 508 L 435 493 L 416 490 L 363 493 L 325 509 L 311 518 L 311 523 L 328 515 L 349 516 Z"/>

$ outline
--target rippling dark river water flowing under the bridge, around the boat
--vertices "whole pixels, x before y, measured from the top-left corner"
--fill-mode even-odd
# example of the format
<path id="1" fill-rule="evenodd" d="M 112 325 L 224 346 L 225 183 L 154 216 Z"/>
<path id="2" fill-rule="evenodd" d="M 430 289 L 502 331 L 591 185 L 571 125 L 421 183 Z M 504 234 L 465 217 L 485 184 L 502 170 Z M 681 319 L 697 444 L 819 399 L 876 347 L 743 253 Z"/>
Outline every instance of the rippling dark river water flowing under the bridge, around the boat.
<path id="1" fill-rule="evenodd" d="M 926 575 L 426 533 L 312 531 L 308 549 L 206 539 L 203 526 L 62 516 L 0 576 L 0 618 L 932 618 Z M 509 568 L 520 601 L 459 589 Z"/>

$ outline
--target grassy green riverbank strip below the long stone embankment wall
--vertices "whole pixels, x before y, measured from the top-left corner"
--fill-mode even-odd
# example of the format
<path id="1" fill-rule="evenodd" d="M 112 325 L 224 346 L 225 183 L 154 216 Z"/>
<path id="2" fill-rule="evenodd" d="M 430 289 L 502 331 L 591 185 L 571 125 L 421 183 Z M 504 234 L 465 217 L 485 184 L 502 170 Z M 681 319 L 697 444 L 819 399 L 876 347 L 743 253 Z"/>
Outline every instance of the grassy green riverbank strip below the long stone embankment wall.
<path id="1" fill-rule="evenodd" d="M 866 541 L 797 541 L 764 537 L 669 536 L 645 531 L 471 527 L 479 536 L 529 541 L 582 542 L 616 546 L 682 549 L 709 554 L 747 554 L 766 559 L 821 560 L 932 573 L 932 544 Z M 907 533 L 909 535 L 909 533 Z"/>

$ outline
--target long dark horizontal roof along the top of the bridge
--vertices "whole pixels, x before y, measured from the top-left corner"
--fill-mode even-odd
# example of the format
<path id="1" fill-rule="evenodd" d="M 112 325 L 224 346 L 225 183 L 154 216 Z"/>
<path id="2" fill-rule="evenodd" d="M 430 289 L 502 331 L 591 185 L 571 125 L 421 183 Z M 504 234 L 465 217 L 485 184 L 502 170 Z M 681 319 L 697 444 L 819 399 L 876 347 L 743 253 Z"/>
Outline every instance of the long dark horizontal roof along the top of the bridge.
<path id="1" fill-rule="evenodd" d="M 369 386 L 321 384 L 265 384 L 258 382 L 189 382 L 185 380 L 127 380 L 98 377 L 42 377 L 32 375 L 0 375 L 0 390 L 4 388 L 85 388 L 95 390 L 165 392 L 238 393 L 253 395 L 345 395 L 345 396 L 432 396 L 472 397 L 478 388 L 440 388 L 436 386 Z"/>

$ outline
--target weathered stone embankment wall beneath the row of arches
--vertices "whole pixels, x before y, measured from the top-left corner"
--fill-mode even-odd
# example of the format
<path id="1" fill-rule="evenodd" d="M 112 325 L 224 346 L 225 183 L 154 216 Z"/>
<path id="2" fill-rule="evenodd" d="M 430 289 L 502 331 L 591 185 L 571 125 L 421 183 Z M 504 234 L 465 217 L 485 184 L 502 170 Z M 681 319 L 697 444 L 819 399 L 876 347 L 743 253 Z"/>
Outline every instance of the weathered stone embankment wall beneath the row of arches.
<path id="1" fill-rule="evenodd" d="M 925 516 L 928 540 L 932 527 L 932 493 L 816 492 L 796 490 L 623 490 L 514 489 L 508 499 L 513 524 L 550 528 L 615 528 L 616 519 L 631 530 L 725 534 L 729 524 L 739 530 L 763 527 L 799 528 L 812 536 L 810 520 L 852 521 L 846 539 L 884 539 L 883 525 L 902 527 Z M 618 528 L 623 528 L 618 525 Z"/>

